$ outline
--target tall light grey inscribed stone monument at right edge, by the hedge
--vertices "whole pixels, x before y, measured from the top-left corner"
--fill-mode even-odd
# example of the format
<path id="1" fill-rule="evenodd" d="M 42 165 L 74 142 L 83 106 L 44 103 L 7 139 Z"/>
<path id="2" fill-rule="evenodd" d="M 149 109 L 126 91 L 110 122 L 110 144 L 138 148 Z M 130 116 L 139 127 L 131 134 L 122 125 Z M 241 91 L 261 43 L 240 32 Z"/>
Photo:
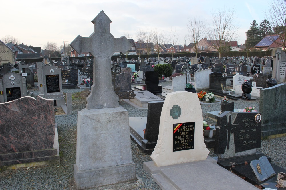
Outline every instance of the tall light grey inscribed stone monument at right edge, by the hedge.
<path id="1" fill-rule="evenodd" d="M 286 54 L 281 49 L 276 49 L 272 51 L 273 57 L 273 66 L 272 66 L 272 75 L 273 78 L 277 79 L 277 82 L 285 82 L 285 73 L 286 73 Z M 271 60 L 272 61 L 272 60 Z M 268 67 L 271 67 L 271 64 Z"/>

